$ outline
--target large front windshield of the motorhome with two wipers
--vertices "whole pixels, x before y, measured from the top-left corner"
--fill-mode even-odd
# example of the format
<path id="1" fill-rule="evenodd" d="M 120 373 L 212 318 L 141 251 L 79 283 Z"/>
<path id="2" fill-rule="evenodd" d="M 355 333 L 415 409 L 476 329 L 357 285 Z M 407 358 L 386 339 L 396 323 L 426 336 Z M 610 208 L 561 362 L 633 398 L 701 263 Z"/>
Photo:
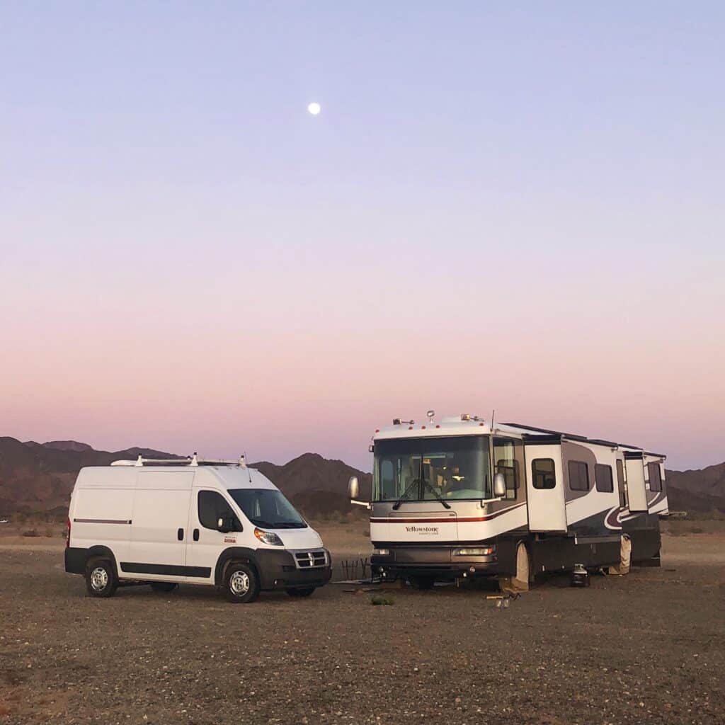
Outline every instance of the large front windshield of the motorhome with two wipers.
<path id="1" fill-rule="evenodd" d="M 376 441 L 373 500 L 490 497 L 487 436 Z"/>

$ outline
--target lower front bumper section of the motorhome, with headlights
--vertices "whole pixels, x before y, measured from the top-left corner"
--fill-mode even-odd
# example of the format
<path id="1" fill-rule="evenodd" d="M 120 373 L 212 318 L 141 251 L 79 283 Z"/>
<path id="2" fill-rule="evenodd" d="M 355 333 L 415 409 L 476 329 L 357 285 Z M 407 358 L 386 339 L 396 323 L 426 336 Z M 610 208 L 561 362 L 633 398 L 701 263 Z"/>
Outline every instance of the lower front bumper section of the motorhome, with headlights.
<path id="1" fill-rule="evenodd" d="M 382 552 L 387 552 L 382 553 Z M 479 552 L 490 553 L 479 553 Z M 394 579 L 419 574 L 441 579 L 491 576 L 499 573 L 495 544 L 379 544 L 370 557 L 373 576 Z"/>

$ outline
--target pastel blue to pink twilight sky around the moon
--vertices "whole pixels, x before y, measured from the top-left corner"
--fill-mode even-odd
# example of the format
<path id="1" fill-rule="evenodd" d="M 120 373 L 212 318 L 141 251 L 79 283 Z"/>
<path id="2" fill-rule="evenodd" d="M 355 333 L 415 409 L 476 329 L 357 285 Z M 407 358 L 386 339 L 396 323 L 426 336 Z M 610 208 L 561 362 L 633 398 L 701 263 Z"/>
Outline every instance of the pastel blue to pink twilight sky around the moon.
<path id="1" fill-rule="evenodd" d="M 7 2 L 0 435 L 725 460 L 721 3 Z M 306 111 L 322 105 L 319 116 Z"/>

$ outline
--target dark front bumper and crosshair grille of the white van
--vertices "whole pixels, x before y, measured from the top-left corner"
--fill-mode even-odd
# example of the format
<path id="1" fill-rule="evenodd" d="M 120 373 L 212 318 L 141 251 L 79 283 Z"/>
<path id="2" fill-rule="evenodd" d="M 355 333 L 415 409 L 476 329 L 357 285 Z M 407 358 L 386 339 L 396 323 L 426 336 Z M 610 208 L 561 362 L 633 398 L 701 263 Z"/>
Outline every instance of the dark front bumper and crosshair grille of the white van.
<path id="1" fill-rule="evenodd" d="M 320 556 L 321 552 L 324 552 L 324 558 Z M 303 563 L 305 558 L 299 551 L 257 550 L 262 589 L 304 589 L 327 584 L 332 577 L 330 552 L 320 549 L 305 553 L 307 559 Z"/>

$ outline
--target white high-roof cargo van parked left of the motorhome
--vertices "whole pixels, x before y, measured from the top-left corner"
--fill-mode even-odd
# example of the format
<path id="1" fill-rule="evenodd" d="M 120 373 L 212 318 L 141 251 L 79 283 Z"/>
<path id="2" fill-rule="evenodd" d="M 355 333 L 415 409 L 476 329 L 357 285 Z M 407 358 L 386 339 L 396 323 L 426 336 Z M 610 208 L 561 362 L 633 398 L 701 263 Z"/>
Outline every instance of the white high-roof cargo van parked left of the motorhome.
<path id="1" fill-rule="evenodd" d="M 331 577 L 330 552 L 281 491 L 239 461 L 119 460 L 82 468 L 70 498 L 65 571 L 88 594 L 119 585 L 223 587 L 231 602 L 260 590 L 307 597 Z"/>

